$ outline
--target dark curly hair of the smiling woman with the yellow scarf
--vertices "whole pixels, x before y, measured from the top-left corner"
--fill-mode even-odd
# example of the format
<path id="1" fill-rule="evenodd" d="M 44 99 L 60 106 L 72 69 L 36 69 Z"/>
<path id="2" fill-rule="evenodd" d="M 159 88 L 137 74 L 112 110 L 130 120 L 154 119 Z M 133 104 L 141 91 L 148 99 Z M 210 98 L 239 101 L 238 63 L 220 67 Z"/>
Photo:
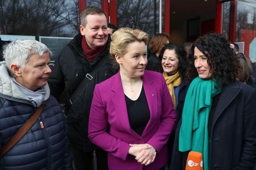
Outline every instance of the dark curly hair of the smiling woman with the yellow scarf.
<path id="1" fill-rule="evenodd" d="M 159 54 L 159 62 L 154 66 L 154 71 L 163 73 L 164 69 L 162 67 L 162 59 L 165 53 L 165 50 L 174 50 L 178 59 L 179 59 L 179 67 L 178 71 L 179 74 L 183 79 L 185 79 L 186 71 L 187 71 L 187 59 L 186 59 L 186 51 L 183 48 L 183 46 L 179 46 L 178 44 L 175 43 L 170 43 L 170 44 L 165 44 L 165 46 L 161 49 L 160 54 Z"/>

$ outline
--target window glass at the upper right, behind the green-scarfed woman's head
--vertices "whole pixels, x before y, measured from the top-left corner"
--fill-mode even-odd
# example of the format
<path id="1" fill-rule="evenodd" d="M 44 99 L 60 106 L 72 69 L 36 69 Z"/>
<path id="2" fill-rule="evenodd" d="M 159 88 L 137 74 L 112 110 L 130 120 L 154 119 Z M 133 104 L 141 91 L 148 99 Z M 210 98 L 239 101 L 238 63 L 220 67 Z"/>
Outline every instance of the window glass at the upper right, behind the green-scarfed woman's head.
<path id="1" fill-rule="evenodd" d="M 239 52 L 256 62 L 256 3 L 255 0 L 236 0 L 223 3 L 222 34 L 237 42 Z"/>

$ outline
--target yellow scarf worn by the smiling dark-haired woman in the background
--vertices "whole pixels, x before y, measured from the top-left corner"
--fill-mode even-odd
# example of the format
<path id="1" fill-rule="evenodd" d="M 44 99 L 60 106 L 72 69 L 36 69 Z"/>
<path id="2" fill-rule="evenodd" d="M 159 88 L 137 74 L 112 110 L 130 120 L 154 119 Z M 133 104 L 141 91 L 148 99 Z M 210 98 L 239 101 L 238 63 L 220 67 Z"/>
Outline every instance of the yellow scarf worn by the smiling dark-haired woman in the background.
<path id="1" fill-rule="evenodd" d="M 172 97 L 173 106 L 174 108 L 176 108 L 176 99 L 175 99 L 175 93 L 173 88 L 178 87 L 181 84 L 181 77 L 179 76 L 179 71 L 172 76 L 168 76 L 167 73 L 165 72 L 163 72 L 163 75 L 165 77 L 168 90 Z"/>

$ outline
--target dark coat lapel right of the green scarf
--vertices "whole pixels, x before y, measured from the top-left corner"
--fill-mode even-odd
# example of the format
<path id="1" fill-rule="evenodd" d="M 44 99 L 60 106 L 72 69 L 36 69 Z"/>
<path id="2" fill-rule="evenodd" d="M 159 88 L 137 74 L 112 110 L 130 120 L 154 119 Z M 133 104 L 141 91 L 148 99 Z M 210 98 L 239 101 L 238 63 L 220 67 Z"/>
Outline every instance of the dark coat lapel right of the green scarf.
<path id="1" fill-rule="evenodd" d="M 227 106 L 235 99 L 240 90 L 241 87 L 238 86 L 236 81 L 230 82 L 229 85 L 224 85 L 213 116 L 212 124 L 215 124 L 218 117 L 223 113 L 223 110 L 225 110 Z"/>

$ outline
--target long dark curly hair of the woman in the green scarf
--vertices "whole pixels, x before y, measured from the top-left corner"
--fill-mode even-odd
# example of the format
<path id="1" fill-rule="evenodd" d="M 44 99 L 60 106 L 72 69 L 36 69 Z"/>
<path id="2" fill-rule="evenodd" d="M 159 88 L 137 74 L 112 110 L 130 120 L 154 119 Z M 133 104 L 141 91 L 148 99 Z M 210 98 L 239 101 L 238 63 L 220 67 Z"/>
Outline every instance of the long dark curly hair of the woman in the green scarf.
<path id="1" fill-rule="evenodd" d="M 230 44 L 222 34 L 209 32 L 199 37 L 191 47 L 188 59 L 187 78 L 192 81 L 198 76 L 194 66 L 194 49 L 200 50 L 207 58 L 210 66 L 211 77 L 217 85 L 223 85 L 238 77 L 239 61 L 234 57 L 235 53 L 230 48 Z"/>

